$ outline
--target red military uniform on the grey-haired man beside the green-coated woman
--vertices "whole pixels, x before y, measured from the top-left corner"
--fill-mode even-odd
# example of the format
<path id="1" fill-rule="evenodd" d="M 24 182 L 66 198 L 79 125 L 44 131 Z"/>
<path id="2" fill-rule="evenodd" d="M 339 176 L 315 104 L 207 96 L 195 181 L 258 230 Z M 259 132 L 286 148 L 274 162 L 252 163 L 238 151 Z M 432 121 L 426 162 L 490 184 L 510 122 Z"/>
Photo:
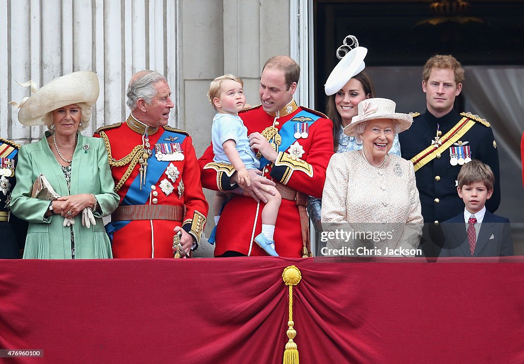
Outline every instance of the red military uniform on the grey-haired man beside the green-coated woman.
<path id="1" fill-rule="evenodd" d="M 129 115 L 103 126 L 120 205 L 111 216 L 114 258 L 173 258 L 177 226 L 199 243 L 208 215 L 191 137 L 169 126 L 148 127 Z M 196 244 L 193 248 L 196 248 Z"/>

